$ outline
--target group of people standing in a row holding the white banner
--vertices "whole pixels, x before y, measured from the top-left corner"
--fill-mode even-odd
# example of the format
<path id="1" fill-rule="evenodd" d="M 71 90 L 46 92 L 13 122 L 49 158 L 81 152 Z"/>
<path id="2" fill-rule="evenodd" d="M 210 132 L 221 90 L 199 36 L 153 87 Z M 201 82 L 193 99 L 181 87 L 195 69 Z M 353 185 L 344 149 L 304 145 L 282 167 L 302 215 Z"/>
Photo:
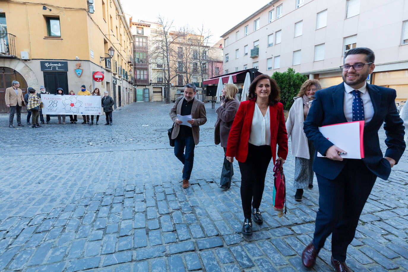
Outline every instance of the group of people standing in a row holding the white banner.
<path id="1" fill-rule="evenodd" d="M 32 88 L 27 88 L 27 93 L 24 95 L 22 94 L 22 90 L 20 87 L 20 82 L 13 80 L 11 82 L 11 87 L 6 89 L 5 92 L 5 101 L 6 106 L 10 108 L 9 114 L 9 128 L 15 128 L 13 125 L 14 115 L 17 115 L 17 126 L 24 126 L 21 122 L 21 109 L 23 106 L 27 107 L 27 125 L 31 125 L 32 128 L 40 128 L 41 124 L 50 124 L 51 116 L 46 114 L 46 119 L 44 121 L 44 115 L 42 114 L 42 109 L 44 108 L 44 103 L 41 100 L 41 95 L 49 95 L 49 93 L 44 86 L 40 86 L 40 92 Z M 62 88 L 57 88 L 54 95 L 64 95 L 64 90 Z M 68 95 L 75 95 L 74 91 L 69 91 Z M 85 85 L 81 86 L 81 90 L 78 91 L 76 95 L 96 95 L 99 96 L 101 99 L 101 106 L 106 116 L 106 123 L 105 125 L 113 125 L 112 123 L 112 112 L 113 112 L 113 104 L 115 103 L 113 98 L 108 95 L 107 91 L 104 91 L 102 95 L 99 88 L 95 88 L 92 93 L 86 90 Z M 83 122 L 81 124 L 88 124 L 93 125 L 93 121 L 96 116 L 95 124 L 98 125 L 99 123 L 99 116 L 100 115 L 82 115 Z M 31 117 L 31 123 L 30 123 Z M 57 115 L 58 122 L 56 124 L 66 124 L 65 123 L 64 114 Z M 69 115 L 69 121 L 71 124 L 76 124 L 78 122 L 78 115 Z M 38 121 L 40 119 L 40 122 Z"/>

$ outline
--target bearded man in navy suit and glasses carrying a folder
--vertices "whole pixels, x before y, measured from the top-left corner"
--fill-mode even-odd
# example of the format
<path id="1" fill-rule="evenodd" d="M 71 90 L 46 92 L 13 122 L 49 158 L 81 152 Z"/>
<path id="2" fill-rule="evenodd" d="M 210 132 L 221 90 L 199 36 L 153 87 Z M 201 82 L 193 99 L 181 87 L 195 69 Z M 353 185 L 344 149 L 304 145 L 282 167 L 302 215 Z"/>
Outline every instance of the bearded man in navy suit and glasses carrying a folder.
<path id="1" fill-rule="evenodd" d="M 347 267 L 347 247 L 354 238 L 357 223 L 375 179 L 388 179 L 405 149 L 404 127 L 395 107 L 394 89 L 366 83 L 374 70 L 374 52 L 368 48 L 351 49 L 344 55 L 343 81 L 315 94 L 304 122 L 304 132 L 313 141 L 317 157 L 313 163 L 319 184 L 319 210 L 313 241 L 302 253 L 302 262 L 310 268 L 319 250 L 332 234 L 331 263 L 335 271 Z M 346 152 L 319 132 L 320 126 L 364 120 L 364 159 L 343 159 Z M 387 150 L 381 152 L 378 130 L 383 122 Z"/>

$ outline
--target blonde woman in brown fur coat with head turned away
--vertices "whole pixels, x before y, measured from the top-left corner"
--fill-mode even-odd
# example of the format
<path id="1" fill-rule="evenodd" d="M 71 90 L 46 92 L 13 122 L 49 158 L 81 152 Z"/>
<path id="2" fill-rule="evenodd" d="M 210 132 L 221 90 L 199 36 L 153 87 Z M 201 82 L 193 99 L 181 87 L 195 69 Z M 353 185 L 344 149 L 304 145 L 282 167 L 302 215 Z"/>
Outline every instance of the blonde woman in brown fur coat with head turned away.
<path id="1" fill-rule="evenodd" d="M 224 164 L 221 171 L 220 188 L 228 189 L 231 186 L 231 178 L 234 175 L 233 164 L 225 156 L 228 142 L 228 134 L 234 122 L 235 113 L 239 108 L 237 99 L 238 88 L 234 84 L 226 84 L 222 89 L 221 104 L 217 108 L 217 122 L 215 122 L 214 142 L 224 148 Z"/>

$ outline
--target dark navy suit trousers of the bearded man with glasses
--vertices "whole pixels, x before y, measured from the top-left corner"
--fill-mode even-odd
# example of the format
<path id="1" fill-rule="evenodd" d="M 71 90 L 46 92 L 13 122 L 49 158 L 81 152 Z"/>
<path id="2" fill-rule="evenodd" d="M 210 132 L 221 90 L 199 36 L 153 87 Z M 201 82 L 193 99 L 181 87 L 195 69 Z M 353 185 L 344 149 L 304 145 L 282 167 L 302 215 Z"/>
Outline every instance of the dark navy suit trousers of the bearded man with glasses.
<path id="1" fill-rule="evenodd" d="M 332 255 L 337 261 L 346 261 L 347 247 L 354 239 L 361 211 L 377 179 L 361 159 L 346 160 L 333 180 L 316 174 L 319 210 L 313 245 L 320 250 L 331 233 Z"/>

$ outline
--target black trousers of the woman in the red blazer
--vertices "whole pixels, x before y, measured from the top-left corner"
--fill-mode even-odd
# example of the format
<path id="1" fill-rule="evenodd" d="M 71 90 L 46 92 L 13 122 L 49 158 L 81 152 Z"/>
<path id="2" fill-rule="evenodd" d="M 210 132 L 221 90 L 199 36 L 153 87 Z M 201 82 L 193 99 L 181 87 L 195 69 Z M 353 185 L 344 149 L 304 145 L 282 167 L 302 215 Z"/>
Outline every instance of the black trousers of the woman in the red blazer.
<path id="1" fill-rule="evenodd" d="M 253 208 L 259 208 L 265 187 L 266 170 L 272 159 L 271 146 L 248 144 L 248 157 L 238 162 L 241 171 L 241 199 L 245 218 L 251 218 Z"/>

